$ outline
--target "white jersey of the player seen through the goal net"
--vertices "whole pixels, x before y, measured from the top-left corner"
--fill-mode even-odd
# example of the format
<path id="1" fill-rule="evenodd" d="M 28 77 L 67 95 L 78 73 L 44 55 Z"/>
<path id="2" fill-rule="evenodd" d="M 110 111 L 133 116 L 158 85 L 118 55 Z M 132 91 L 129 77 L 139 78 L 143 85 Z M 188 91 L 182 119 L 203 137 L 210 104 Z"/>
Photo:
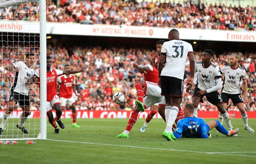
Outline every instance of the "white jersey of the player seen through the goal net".
<path id="1" fill-rule="evenodd" d="M 30 85 L 26 85 L 26 82 L 34 75 L 34 70 L 32 68 L 29 68 L 22 61 L 14 62 L 12 64 L 15 68 L 19 68 L 19 71 L 15 73 L 14 82 L 11 86 L 11 90 L 27 96 Z"/>

